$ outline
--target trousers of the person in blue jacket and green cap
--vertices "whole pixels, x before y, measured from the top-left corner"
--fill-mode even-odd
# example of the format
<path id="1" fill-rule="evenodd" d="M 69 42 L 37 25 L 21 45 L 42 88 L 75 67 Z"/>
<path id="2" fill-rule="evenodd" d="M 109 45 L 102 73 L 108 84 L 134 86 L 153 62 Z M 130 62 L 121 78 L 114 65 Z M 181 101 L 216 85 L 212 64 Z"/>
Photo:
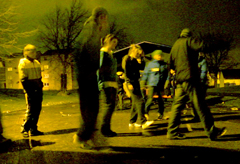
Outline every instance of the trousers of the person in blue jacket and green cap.
<path id="1" fill-rule="evenodd" d="M 157 93 L 158 95 L 158 113 L 163 115 L 164 112 L 164 102 L 162 99 L 162 95 L 161 95 L 161 89 L 160 87 L 157 86 L 149 86 L 148 87 L 148 96 L 147 96 L 147 102 L 145 104 L 145 113 L 149 113 L 150 107 L 152 105 L 152 101 L 153 101 L 153 94 Z"/>

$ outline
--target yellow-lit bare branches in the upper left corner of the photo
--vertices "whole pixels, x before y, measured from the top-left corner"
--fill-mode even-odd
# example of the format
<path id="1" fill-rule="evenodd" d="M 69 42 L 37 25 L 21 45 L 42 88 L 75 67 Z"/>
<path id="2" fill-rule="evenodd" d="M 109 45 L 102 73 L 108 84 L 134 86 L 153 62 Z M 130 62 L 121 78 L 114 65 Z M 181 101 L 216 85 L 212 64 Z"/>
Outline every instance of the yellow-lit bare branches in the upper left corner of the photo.
<path id="1" fill-rule="evenodd" d="M 36 34 L 37 29 L 20 32 L 19 13 L 16 12 L 17 6 L 12 1 L 0 0 L 0 51 L 1 53 L 12 54 L 14 49 L 22 50 L 19 45 L 19 38 L 27 38 Z"/>

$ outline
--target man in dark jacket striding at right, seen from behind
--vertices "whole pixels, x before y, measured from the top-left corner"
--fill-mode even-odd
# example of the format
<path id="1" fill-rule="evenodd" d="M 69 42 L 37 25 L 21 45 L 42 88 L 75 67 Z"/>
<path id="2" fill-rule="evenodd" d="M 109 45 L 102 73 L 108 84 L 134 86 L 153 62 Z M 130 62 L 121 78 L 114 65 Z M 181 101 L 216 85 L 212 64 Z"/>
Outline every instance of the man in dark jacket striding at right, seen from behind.
<path id="1" fill-rule="evenodd" d="M 184 139 L 186 136 L 179 132 L 181 111 L 185 108 L 188 97 L 196 109 L 204 130 L 210 140 L 216 140 L 225 132 L 225 128 L 214 126 L 214 119 L 207 107 L 200 87 L 198 70 L 198 52 L 203 42 L 192 37 L 189 29 L 183 29 L 179 39 L 174 43 L 170 52 L 170 69 L 176 72 L 175 97 L 171 107 L 168 124 L 168 139 Z"/>

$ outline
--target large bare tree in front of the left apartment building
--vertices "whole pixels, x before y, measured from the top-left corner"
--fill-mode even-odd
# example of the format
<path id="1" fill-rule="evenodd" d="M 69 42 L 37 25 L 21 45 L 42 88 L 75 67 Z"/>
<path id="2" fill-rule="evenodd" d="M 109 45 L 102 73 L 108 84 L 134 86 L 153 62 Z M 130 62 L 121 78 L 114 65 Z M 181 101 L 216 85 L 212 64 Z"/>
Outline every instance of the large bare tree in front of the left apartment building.
<path id="1" fill-rule="evenodd" d="M 71 52 L 87 16 L 88 11 L 82 7 L 82 3 L 72 0 L 70 7 L 56 6 L 55 11 L 48 13 L 40 22 L 43 28 L 40 29 L 39 41 L 43 48 L 54 50 L 57 54 L 54 60 L 62 64 L 60 76 L 63 92 L 67 91 L 67 69 L 73 65 Z"/>

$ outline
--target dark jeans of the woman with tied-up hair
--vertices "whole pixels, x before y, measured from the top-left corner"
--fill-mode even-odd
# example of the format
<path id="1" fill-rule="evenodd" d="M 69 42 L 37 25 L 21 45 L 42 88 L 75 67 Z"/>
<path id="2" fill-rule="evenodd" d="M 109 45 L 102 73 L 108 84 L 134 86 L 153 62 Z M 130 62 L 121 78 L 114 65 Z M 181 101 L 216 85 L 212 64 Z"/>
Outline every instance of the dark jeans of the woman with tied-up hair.
<path id="1" fill-rule="evenodd" d="M 111 130 L 111 118 L 115 109 L 117 89 L 113 87 L 104 88 L 100 93 L 100 108 L 103 109 L 102 132 Z"/>

